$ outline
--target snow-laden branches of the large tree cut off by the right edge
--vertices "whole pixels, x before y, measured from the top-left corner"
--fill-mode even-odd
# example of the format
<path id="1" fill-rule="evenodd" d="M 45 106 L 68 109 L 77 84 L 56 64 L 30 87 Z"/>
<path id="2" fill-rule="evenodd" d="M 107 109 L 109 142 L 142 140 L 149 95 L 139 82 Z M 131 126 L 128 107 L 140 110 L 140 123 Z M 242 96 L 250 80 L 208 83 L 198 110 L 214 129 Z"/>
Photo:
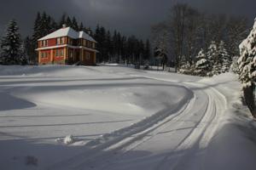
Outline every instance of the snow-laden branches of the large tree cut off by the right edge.
<path id="1" fill-rule="evenodd" d="M 256 19 L 253 30 L 249 36 L 240 44 L 239 78 L 244 87 L 255 85 L 256 79 Z"/>

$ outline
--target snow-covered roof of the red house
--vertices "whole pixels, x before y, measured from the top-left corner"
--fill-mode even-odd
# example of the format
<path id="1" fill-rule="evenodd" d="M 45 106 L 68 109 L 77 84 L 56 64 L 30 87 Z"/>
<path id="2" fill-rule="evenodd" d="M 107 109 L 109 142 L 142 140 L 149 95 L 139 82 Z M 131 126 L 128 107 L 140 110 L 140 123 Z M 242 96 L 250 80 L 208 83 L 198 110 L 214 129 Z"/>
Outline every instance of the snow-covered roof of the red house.
<path id="1" fill-rule="evenodd" d="M 95 39 L 90 37 L 84 31 L 79 31 L 79 32 L 74 31 L 73 28 L 71 28 L 71 27 L 61 28 L 57 31 L 54 31 L 54 32 L 50 33 L 49 35 L 47 35 L 45 37 L 42 37 L 42 38 L 38 39 L 38 41 L 47 40 L 47 39 L 56 38 L 56 37 L 71 37 L 73 39 L 84 38 L 84 39 L 89 40 L 91 42 L 96 42 Z"/>

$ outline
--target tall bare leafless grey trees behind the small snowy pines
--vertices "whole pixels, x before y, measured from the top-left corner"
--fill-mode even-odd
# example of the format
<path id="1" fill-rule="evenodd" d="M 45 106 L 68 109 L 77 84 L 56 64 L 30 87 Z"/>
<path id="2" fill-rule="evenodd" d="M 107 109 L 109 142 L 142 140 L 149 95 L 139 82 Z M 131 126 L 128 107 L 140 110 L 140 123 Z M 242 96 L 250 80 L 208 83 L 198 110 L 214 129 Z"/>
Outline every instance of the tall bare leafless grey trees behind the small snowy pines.
<path id="1" fill-rule="evenodd" d="M 183 59 L 189 65 L 195 64 L 197 54 L 201 49 L 207 53 L 212 42 L 227 44 L 225 48 L 231 59 L 238 56 L 247 28 L 245 17 L 205 14 L 186 3 L 177 3 L 168 20 L 152 26 L 153 48 L 166 56 L 164 65 L 172 62 L 179 71 Z"/>

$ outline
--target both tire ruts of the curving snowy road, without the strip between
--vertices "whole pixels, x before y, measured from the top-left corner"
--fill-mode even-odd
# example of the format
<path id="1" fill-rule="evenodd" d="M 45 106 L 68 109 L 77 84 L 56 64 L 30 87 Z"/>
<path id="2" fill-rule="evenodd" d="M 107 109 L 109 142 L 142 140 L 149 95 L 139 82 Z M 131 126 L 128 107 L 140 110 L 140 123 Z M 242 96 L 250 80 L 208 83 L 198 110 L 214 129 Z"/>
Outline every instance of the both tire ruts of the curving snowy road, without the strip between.
<path id="1" fill-rule="evenodd" d="M 131 76 L 172 82 L 154 77 Z M 160 116 L 156 121 L 151 117 L 151 122 L 147 122 L 147 126 L 139 128 L 139 126 L 143 125 L 142 122 L 138 122 L 131 127 L 125 127 L 125 129 L 110 133 L 105 136 L 106 141 L 103 141 L 102 144 L 96 144 L 89 151 L 79 156 L 74 156 L 69 160 L 61 161 L 49 167 L 49 169 L 113 169 L 112 167 L 118 166 L 116 160 L 119 157 L 125 156 L 130 151 L 136 150 L 138 147 L 147 144 L 148 141 L 157 138 L 156 135 L 166 128 L 171 127 L 173 133 L 176 133 L 176 129 L 183 127 L 184 120 L 189 120 L 190 117 L 193 118 L 194 116 L 197 117 L 194 127 L 191 127 L 189 132 L 183 136 L 183 139 L 176 144 L 172 151 L 167 152 L 154 165 L 153 169 L 178 170 L 186 169 L 188 166 L 195 167 L 195 165 L 195 169 L 203 169 L 202 160 L 204 156 L 203 154 L 197 156 L 197 152 L 199 150 L 202 150 L 203 153 L 207 151 L 207 144 L 209 144 L 218 130 L 218 122 L 221 121 L 220 116 L 226 109 L 227 101 L 224 94 L 221 94 L 216 88 L 208 87 L 206 84 L 183 82 L 179 85 L 188 88 L 194 93 L 193 98 L 184 102 L 181 108 L 162 113 L 163 116 Z M 201 103 L 203 100 L 205 105 Z M 201 107 L 198 108 L 198 105 Z M 175 114 L 173 114 L 173 111 Z M 155 117 L 155 115 L 153 116 Z M 123 135 L 116 137 L 115 134 Z M 102 138 L 99 140 L 101 141 Z M 185 151 L 182 151 L 173 161 L 173 154 L 181 150 Z M 191 159 L 193 156 L 196 159 Z"/>

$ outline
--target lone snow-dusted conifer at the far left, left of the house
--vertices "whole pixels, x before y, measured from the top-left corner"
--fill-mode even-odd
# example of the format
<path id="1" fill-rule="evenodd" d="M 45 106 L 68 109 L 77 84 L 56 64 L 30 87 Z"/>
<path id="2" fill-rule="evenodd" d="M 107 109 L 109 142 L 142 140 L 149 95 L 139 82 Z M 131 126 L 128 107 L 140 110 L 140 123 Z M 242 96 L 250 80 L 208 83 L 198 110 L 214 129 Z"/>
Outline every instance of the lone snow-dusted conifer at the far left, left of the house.
<path id="1" fill-rule="evenodd" d="M 6 35 L 1 41 L 1 60 L 3 65 L 20 65 L 20 45 L 21 38 L 19 27 L 15 20 L 10 20 Z"/>

